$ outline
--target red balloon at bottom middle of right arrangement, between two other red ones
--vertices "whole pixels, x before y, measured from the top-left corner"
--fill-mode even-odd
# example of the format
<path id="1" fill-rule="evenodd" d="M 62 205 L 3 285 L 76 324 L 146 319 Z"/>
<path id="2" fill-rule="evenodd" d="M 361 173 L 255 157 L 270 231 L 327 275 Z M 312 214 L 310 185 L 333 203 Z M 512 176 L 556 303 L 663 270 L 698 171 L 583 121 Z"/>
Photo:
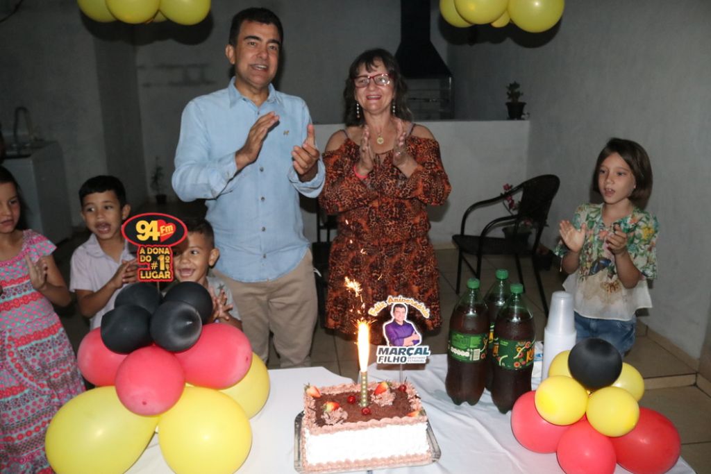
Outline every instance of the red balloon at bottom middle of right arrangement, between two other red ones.
<path id="1" fill-rule="evenodd" d="M 587 419 L 570 425 L 563 433 L 557 456 L 565 474 L 612 474 L 616 465 L 612 441 L 594 429 Z"/>

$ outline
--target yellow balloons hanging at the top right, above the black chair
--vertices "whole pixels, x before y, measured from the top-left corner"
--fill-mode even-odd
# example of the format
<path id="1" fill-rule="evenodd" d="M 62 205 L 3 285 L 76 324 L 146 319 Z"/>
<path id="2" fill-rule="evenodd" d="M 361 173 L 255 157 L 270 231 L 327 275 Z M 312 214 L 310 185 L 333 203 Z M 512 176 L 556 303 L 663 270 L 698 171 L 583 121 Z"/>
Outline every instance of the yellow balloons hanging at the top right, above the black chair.
<path id="1" fill-rule="evenodd" d="M 528 33 L 540 33 L 560 20 L 565 0 L 439 0 L 439 11 L 457 28 L 490 24 L 502 28 L 513 22 Z"/>

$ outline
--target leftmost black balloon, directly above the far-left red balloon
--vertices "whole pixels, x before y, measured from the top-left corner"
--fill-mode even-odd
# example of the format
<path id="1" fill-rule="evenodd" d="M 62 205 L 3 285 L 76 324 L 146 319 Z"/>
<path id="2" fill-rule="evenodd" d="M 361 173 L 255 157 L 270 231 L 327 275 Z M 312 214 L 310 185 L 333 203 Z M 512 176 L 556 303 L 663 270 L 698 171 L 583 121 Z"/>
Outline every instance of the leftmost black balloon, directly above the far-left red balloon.
<path id="1" fill-rule="evenodd" d="M 150 345 L 151 313 L 136 305 L 117 306 L 101 318 L 101 340 L 119 354 Z"/>

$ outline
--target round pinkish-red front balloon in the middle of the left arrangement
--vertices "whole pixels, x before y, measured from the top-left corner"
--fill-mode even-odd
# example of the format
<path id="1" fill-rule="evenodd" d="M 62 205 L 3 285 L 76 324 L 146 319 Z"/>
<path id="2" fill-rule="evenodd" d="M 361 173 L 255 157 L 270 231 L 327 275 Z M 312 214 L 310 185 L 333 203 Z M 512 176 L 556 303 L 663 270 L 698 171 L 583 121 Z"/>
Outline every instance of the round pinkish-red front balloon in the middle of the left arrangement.
<path id="1" fill-rule="evenodd" d="M 121 403 L 144 416 L 171 408 L 184 387 L 185 375 L 175 355 L 153 346 L 131 352 L 116 375 L 116 393 Z"/>

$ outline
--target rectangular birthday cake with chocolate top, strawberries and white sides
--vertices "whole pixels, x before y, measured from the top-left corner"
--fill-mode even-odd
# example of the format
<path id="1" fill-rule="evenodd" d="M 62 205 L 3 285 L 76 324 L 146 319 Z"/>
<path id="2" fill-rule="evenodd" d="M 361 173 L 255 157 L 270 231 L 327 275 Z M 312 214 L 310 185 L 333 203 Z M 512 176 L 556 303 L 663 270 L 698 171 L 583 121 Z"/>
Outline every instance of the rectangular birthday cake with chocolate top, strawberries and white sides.
<path id="1" fill-rule="evenodd" d="M 300 446 L 304 472 L 432 461 L 427 415 L 412 384 L 370 382 L 368 406 L 359 402 L 359 384 L 307 387 Z"/>

